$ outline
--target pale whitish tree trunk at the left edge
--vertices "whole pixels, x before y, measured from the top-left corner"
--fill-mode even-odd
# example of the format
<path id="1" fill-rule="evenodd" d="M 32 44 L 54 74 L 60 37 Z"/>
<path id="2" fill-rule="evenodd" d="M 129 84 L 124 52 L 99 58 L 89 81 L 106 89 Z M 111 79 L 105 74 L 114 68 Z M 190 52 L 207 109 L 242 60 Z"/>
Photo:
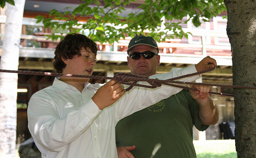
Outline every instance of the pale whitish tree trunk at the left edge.
<path id="1" fill-rule="evenodd" d="M 5 35 L 0 69 L 18 70 L 25 0 L 6 3 Z M 0 73 L 0 155 L 14 154 L 17 126 L 17 74 Z"/>

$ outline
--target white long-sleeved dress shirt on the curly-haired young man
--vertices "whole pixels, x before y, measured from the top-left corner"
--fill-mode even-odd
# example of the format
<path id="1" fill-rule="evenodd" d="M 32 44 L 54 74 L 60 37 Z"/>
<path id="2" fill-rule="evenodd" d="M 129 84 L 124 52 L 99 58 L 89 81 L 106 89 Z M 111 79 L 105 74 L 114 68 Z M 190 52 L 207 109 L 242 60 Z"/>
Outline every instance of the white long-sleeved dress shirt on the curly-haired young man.
<path id="1" fill-rule="evenodd" d="M 194 65 L 173 68 L 151 78 L 170 79 L 193 72 L 196 72 Z M 55 78 L 52 86 L 33 94 L 27 110 L 28 127 L 42 158 L 117 158 L 117 122 L 182 90 L 170 86 L 133 87 L 113 105 L 100 110 L 91 99 L 100 86 L 86 83 L 80 93 Z"/>

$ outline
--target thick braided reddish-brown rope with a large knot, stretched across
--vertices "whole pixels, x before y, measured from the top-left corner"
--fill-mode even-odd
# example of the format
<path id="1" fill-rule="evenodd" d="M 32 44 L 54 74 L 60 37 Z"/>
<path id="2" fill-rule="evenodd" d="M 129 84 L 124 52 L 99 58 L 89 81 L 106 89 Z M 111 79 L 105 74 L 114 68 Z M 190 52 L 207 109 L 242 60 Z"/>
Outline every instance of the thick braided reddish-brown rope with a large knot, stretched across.
<path id="1" fill-rule="evenodd" d="M 186 74 L 179 77 L 174 77 L 172 79 L 166 79 L 166 80 L 160 80 L 160 79 L 149 79 L 148 77 L 141 77 L 135 74 L 129 74 L 129 73 L 118 73 L 115 74 L 114 77 L 103 77 L 103 76 L 90 76 L 90 75 L 79 75 L 79 74 L 62 74 L 62 73 L 55 73 L 55 72 L 35 72 L 35 71 L 24 71 L 24 70 L 2 70 L 0 69 L 0 72 L 9 72 L 9 73 L 17 73 L 17 74 L 33 74 L 33 75 L 45 75 L 45 76 L 65 76 L 65 77 L 81 77 L 81 78 L 91 78 L 91 79 L 114 79 L 120 84 L 130 85 L 129 88 L 126 89 L 126 91 L 129 91 L 132 89 L 133 86 L 141 86 L 145 88 L 156 88 L 161 86 L 162 84 L 173 86 L 177 88 L 184 88 L 184 89 L 190 89 L 196 91 L 196 88 L 191 88 L 187 86 L 180 86 L 176 84 L 194 84 L 194 85 L 205 85 L 205 86 L 219 86 L 219 87 L 230 87 L 230 88 L 242 88 L 242 89 L 256 89 L 256 87 L 249 87 L 249 86 L 235 86 L 235 85 L 221 85 L 221 84 L 206 84 L 206 83 L 193 83 L 193 82 L 184 82 L 184 81 L 174 81 L 176 79 L 182 79 L 185 77 L 191 77 L 194 75 L 202 74 L 205 72 L 210 72 L 214 70 L 215 68 L 204 70 L 201 72 L 195 72 L 191 74 Z M 130 81 L 134 81 L 131 83 Z M 146 81 L 149 85 L 142 85 L 137 84 L 137 81 Z M 175 84 L 170 84 L 175 83 Z M 217 92 L 209 92 L 212 94 L 218 94 L 218 95 L 227 95 L 227 96 L 234 96 L 232 94 L 226 94 L 226 93 L 217 93 Z"/>

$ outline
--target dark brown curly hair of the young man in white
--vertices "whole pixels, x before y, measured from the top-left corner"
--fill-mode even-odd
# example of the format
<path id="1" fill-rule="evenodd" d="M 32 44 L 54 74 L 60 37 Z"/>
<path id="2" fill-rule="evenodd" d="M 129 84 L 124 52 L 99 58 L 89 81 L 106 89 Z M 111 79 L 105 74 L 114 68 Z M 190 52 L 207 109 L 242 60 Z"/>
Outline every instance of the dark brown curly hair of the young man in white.
<path id="1" fill-rule="evenodd" d="M 62 61 L 64 59 L 72 59 L 74 55 L 80 55 L 80 50 L 91 49 L 91 51 L 97 55 L 98 46 L 93 40 L 89 39 L 85 35 L 72 33 L 67 34 L 64 39 L 56 46 L 54 51 L 53 67 L 57 73 L 62 73 L 62 69 L 66 67 L 66 64 Z"/>

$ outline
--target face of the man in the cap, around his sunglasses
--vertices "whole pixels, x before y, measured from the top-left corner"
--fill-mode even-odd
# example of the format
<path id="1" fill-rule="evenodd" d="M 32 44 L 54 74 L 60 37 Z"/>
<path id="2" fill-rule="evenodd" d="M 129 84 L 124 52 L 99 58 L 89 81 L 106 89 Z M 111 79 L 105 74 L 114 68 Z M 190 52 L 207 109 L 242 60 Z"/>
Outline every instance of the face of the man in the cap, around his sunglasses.
<path id="1" fill-rule="evenodd" d="M 157 53 L 157 50 L 152 46 L 138 45 L 138 46 L 134 46 L 134 48 L 132 48 L 129 51 L 129 54 L 133 52 L 142 53 L 145 51 L 152 51 L 154 53 Z M 143 56 L 141 56 L 139 59 L 136 59 L 136 60 L 128 56 L 127 64 L 132 74 L 149 77 L 153 74 L 156 74 L 156 69 L 160 64 L 160 56 L 159 55 L 153 56 L 153 58 L 150 58 L 150 59 L 145 59 Z"/>

